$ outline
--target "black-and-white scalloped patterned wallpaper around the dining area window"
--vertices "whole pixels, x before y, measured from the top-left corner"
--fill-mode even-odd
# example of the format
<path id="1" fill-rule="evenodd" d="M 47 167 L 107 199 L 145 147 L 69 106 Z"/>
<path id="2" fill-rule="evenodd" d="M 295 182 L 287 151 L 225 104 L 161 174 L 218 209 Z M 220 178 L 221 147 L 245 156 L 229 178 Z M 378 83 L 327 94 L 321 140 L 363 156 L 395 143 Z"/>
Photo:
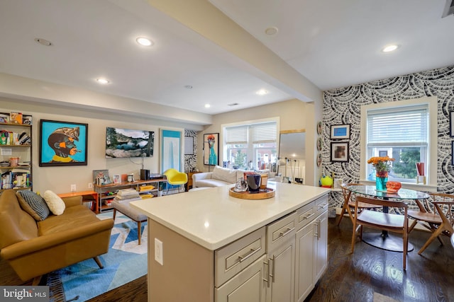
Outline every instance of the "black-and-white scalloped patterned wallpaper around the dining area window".
<path id="1" fill-rule="evenodd" d="M 360 116 L 362 105 L 409 100 L 424 96 L 438 97 L 438 191 L 454 193 L 454 169 L 451 165 L 449 112 L 454 110 L 454 66 L 421 71 L 391 79 L 333 89 L 323 93 L 323 173 L 345 182 L 360 178 Z M 348 162 L 331 163 L 330 129 L 333 124 L 350 124 Z M 342 207 L 342 194 L 331 193 L 331 207 Z"/>

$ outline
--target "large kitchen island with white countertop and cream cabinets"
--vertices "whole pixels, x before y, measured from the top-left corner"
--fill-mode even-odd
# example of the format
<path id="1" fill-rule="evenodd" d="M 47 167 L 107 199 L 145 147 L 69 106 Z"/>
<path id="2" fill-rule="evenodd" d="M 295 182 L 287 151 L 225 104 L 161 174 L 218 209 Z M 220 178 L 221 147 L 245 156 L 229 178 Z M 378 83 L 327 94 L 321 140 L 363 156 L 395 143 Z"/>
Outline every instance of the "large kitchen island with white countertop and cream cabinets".
<path id="1" fill-rule="evenodd" d="M 302 301 L 301 282 L 314 287 L 329 190 L 269 182 L 275 197 L 238 199 L 230 187 L 131 202 L 148 216 L 148 301 Z"/>

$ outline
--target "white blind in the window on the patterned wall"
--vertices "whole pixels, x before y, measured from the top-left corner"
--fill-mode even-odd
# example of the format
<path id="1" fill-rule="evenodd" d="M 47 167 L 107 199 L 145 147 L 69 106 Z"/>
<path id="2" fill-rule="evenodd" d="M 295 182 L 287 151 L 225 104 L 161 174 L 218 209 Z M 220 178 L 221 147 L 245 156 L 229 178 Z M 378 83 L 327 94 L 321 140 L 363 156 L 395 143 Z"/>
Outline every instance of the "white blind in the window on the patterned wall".
<path id="1" fill-rule="evenodd" d="M 428 145 L 427 106 L 367 112 L 367 146 L 392 145 Z"/>

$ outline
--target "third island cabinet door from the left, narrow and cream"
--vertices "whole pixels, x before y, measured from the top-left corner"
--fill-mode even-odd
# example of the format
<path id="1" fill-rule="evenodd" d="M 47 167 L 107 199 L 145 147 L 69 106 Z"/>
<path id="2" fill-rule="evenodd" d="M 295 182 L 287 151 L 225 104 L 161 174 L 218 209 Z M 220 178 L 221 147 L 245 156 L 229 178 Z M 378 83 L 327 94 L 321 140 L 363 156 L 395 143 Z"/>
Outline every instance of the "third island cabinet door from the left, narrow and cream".
<path id="1" fill-rule="evenodd" d="M 302 302 L 314 289 L 314 222 L 297 231 L 295 257 L 295 301 Z"/>

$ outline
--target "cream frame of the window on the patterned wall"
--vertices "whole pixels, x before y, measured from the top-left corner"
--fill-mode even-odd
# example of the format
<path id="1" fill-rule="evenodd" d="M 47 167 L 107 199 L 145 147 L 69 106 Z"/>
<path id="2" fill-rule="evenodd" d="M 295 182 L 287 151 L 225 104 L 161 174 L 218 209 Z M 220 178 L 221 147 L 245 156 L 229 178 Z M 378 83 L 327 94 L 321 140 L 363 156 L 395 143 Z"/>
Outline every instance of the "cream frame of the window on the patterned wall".
<path id="1" fill-rule="evenodd" d="M 377 109 L 402 108 L 415 105 L 428 105 L 428 148 L 427 148 L 427 182 L 426 185 L 413 182 L 402 182 L 402 187 L 414 190 L 433 191 L 437 187 L 437 153 L 438 153 L 438 100 L 436 96 L 416 98 L 411 100 L 398 100 L 395 102 L 378 103 L 361 106 L 361 132 L 360 132 L 360 181 L 372 185 L 373 181 L 367 180 L 367 111 Z"/>

